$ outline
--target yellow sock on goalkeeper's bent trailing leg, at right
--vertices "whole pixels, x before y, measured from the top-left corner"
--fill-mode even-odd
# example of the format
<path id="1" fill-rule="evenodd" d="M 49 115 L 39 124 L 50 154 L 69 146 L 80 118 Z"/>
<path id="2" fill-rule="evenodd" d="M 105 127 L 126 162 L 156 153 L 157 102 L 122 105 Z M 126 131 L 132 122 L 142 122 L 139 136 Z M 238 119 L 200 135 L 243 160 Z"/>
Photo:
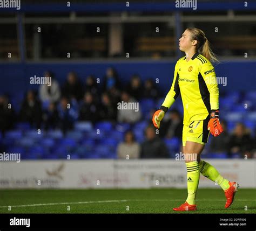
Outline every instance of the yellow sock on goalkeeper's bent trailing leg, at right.
<path id="1" fill-rule="evenodd" d="M 230 187 L 228 180 L 223 178 L 215 167 L 204 160 L 199 162 L 199 171 L 203 176 L 216 182 L 223 190 L 227 190 Z"/>

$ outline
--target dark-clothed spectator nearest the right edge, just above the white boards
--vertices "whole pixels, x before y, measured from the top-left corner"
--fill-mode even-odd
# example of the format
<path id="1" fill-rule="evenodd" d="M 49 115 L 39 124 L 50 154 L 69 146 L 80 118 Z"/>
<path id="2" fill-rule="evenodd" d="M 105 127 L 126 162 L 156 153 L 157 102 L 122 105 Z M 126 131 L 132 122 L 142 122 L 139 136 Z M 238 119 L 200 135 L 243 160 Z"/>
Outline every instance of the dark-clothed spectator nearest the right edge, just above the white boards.
<path id="1" fill-rule="evenodd" d="M 241 157 L 246 154 L 248 158 L 251 157 L 251 150 L 253 148 L 253 140 L 250 135 L 250 130 L 246 129 L 243 123 L 237 123 L 233 135 L 230 137 L 230 152 L 239 153 Z"/>

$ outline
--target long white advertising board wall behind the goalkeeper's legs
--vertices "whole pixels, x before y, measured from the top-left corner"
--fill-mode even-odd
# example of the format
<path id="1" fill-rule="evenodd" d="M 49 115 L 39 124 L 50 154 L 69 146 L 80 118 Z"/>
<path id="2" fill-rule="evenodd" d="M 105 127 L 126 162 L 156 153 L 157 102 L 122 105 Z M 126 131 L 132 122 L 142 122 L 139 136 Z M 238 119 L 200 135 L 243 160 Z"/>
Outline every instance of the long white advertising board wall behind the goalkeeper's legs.
<path id="1" fill-rule="evenodd" d="M 256 188 L 256 159 L 209 159 L 221 175 L 242 188 Z M 199 187 L 219 187 L 200 176 Z M 186 188 L 182 161 L 24 160 L 0 162 L 0 188 Z"/>

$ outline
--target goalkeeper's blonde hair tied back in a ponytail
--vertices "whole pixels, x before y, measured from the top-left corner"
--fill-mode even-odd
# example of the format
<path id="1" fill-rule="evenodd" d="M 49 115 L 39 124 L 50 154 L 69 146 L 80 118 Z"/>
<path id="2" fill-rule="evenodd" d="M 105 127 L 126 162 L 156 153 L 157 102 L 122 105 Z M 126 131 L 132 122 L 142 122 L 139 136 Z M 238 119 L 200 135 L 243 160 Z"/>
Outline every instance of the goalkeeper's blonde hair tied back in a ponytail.
<path id="1" fill-rule="evenodd" d="M 191 41 L 197 40 L 197 45 L 196 45 L 197 52 L 204 55 L 204 57 L 209 61 L 219 62 L 219 60 L 216 58 L 215 54 L 211 49 L 210 42 L 206 38 L 204 31 L 196 27 L 188 27 L 186 30 L 191 33 L 191 38 L 190 38 Z"/>

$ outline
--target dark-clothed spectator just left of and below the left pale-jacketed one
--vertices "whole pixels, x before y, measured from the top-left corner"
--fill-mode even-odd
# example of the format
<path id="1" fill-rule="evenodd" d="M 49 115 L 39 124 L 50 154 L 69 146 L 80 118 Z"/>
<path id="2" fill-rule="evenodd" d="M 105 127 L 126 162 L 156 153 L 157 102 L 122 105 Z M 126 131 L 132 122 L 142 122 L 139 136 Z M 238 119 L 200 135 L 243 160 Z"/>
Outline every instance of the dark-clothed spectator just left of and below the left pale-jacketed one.
<path id="1" fill-rule="evenodd" d="M 21 110 L 19 112 L 21 121 L 29 122 L 32 127 L 39 129 L 42 122 L 42 106 L 41 102 L 36 99 L 33 90 L 26 93 L 26 97 L 22 102 Z"/>

